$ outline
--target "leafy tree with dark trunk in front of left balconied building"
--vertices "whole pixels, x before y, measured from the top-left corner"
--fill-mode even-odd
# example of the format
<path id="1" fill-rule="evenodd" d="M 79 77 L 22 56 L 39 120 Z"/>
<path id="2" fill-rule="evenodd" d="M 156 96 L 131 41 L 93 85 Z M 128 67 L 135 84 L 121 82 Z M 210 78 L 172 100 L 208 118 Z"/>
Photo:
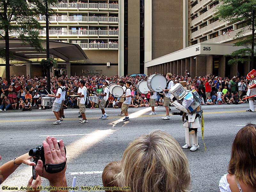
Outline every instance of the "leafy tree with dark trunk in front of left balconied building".
<path id="1" fill-rule="evenodd" d="M 47 2 L 53 4 L 57 1 L 47 0 Z M 10 54 L 9 40 L 18 36 L 22 42 L 29 43 L 37 51 L 43 51 L 38 32 L 43 28 L 36 17 L 45 11 L 45 4 L 39 3 L 38 0 L 0 0 L 0 29 L 4 30 L 0 36 L 5 40 L 5 49 L 0 50 L 0 57 L 5 60 L 8 82 L 10 82 L 10 60 L 14 59 Z M 17 35 L 11 36 L 12 33 Z"/>

